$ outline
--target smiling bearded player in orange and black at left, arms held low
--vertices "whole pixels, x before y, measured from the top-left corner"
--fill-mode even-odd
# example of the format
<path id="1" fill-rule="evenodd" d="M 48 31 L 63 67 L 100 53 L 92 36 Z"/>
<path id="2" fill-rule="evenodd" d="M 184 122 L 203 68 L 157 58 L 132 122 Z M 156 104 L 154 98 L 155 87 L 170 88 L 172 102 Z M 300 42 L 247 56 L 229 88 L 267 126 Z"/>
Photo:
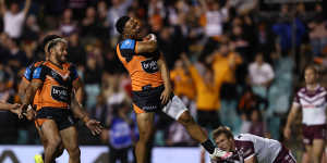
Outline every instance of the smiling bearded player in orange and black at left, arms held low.
<path id="1" fill-rule="evenodd" d="M 70 154 L 70 163 L 80 163 L 81 152 L 72 111 L 85 122 L 93 134 L 99 134 L 101 126 L 99 122 L 90 120 L 80 103 L 74 100 L 75 98 L 72 98 L 74 92 L 81 89 L 82 83 L 75 67 L 66 62 L 66 41 L 55 38 L 46 47 L 49 60 L 35 68 L 32 83 L 23 99 L 23 106 L 26 109 L 32 104 L 36 91 L 39 90 L 36 123 L 48 141 L 45 149 L 45 163 L 53 161 L 56 150 L 61 142 Z M 72 108 L 76 109 L 70 110 L 71 100 Z"/>

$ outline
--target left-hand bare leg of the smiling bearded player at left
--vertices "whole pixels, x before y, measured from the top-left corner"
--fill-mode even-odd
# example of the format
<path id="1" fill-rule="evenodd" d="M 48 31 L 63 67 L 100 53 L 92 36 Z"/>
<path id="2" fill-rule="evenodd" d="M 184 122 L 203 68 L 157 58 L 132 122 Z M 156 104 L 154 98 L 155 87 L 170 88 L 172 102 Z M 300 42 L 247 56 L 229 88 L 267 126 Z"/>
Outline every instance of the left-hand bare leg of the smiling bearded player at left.
<path id="1" fill-rule="evenodd" d="M 47 120 L 41 125 L 43 139 L 47 140 L 45 146 L 45 163 L 51 163 L 56 158 L 56 151 L 60 147 L 61 138 L 57 124 L 53 120 Z"/>

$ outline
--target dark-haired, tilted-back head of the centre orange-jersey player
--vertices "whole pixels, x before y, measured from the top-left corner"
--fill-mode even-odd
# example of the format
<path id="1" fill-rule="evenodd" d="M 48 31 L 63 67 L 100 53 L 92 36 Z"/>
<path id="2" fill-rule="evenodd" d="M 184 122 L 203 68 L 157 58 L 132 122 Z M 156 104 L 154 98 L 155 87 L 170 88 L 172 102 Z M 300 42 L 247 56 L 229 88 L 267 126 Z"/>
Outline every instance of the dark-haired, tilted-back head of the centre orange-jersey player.
<path id="1" fill-rule="evenodd" d="M 141 22 L 130 16 L 121 16 L 116 23 L 116 29 L 123 36 L 137 38 L 141 33 Z"/>

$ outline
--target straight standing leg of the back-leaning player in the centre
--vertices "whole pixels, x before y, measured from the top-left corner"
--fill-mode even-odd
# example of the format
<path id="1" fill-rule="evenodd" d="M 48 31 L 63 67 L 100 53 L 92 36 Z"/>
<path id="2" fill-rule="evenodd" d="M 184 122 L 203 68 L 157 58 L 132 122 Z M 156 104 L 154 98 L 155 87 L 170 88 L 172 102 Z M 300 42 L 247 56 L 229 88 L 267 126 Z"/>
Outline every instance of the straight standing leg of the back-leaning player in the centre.
<path id="1" fill-rule="evenodd" d="M 140 139 L 136 142 L 135 154 L 137 163 L 145 163 L 147 143 L 154 130 L 155 113 L 138 113 L 136 114 L 136 122 L 140 131 Z"/>

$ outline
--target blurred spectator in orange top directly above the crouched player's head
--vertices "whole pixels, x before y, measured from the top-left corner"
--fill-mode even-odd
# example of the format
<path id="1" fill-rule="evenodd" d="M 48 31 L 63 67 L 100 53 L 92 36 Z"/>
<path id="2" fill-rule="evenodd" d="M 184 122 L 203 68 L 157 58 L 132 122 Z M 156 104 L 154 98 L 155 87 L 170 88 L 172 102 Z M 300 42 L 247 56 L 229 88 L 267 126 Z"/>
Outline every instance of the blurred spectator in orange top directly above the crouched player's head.
<path id="1" fill-rule="evenodd" d="M 209 55 L 207 61 L 211 61 L 215 73 L 215 85 L 219 91 L 220 121 L 223 125 L 238 130 L 240 120 L 237 115 L 237 80 L 235 70 L 242 63 L 241 57 L 229 50 L 228 42 L 221 42 L 218 52 Z"/>

